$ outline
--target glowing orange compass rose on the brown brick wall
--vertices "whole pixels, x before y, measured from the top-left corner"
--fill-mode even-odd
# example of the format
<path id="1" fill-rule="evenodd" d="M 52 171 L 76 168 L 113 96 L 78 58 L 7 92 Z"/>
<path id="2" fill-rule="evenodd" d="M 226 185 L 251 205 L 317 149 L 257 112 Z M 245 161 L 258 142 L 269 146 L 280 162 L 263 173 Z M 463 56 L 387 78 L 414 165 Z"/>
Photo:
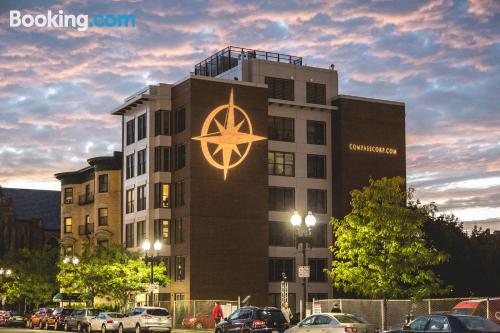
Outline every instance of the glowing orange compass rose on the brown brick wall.
<path id="1" fill-rule="evenodd" d="M 224 180 L 229 169 L 234 168 L 248 155 L 252 142 L 265 140 L 253 134 L 252 122 L 245 110 L 234 104 L 231 88 L 229 103 L 213 109 L 203 122 L 201 135 L 192 138 L 200 141 L 207 161 L 224 171 Z"/>

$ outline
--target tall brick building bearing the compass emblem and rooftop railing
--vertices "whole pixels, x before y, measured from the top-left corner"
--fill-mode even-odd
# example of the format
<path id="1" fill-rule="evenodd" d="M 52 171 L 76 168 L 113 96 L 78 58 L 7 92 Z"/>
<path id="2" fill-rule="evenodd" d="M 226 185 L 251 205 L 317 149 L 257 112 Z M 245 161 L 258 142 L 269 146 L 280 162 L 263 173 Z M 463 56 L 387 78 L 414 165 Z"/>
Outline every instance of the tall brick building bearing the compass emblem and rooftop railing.
<path id="1" fill-rule="evenodd" d="M 161 240 L 160 300 L 236 299 L 298 309 L 302 255 L 290 223 L 311 211 L 308 298 L 333 296 L 332 216 L 370 177 L 406 176 L 404 104 L 339 95 L 338 74 L 302 58 L 228 47 L 175 84 L 117 107 L 123 240 Z"/>

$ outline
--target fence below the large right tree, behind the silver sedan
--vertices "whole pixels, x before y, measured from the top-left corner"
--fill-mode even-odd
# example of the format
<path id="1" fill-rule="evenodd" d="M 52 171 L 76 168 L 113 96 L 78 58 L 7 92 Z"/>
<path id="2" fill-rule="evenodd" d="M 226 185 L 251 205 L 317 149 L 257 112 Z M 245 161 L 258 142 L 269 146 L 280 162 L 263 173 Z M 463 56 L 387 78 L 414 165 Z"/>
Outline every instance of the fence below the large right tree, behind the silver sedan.
<path id="1" fill-rule="evenodd" d="M 485 318 L 500 318 L 500 297 L 487 298 L 440 298 L 411 300 L 388 300 L 384 310 L 383 300 L 373 299 L 325 299 L 307 303 L 307 313 L 330 312 L 335 304 L 342 312 L 364 318 L 384 330 L 400 329 L 407 322 L 423 314 L 450 311 L 462 301 L 479 303 L 473 313 Z M 498 305 L 497 305 L 498 304 Z M 384 313 L 386 311 L 386 313 Z"/>

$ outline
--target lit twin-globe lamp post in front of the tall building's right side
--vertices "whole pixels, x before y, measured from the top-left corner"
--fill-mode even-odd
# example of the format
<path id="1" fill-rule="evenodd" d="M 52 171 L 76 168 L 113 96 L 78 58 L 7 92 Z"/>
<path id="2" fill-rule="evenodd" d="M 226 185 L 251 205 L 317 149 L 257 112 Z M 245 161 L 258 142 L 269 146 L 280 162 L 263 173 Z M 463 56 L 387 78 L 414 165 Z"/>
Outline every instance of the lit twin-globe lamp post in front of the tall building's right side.
<path id="1" fill-rule="evenodd" d="M 299 248 L 299 244 L 302 246 L 302 259 L 303 266 L 307 266 L 306 260 L 306 250 L 307 247 L 312 248 L 312 234 L 311 229 L 316 225 L 316 217 L 309 211 L 304 219 L 304 224 L 302 224 L 302 216 L 295 211 L 290 219 L 292 225 L 295 227 L 296 232 L 296 247 Z M 302 315 L 306 314 L 306 303 L 307 303 L 307 277 L 302 278 L 302 284 L 304 287 L 304 294 L 302 300 Z"/>

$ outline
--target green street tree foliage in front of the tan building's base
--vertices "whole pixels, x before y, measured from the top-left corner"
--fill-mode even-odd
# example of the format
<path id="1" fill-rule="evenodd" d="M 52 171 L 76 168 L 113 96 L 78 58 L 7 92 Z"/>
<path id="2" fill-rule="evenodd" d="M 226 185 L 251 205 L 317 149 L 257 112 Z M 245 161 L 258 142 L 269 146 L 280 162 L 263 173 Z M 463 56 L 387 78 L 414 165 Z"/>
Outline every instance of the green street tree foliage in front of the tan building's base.
<path id="1" fill-rule="evenodd" d="M 125 306 L 131 295 L 147 291 L 150 267 L 137 253 L 122 246 L 86 247 L 79 263 L 59 262 L 57 275 L 61 288 L 68 293 L 81 293 L 93 304 L 95 297 L 109 296 Z M 163 263 L 155 266 L 154 280 L 160 286 L 170 283 Z"/>

